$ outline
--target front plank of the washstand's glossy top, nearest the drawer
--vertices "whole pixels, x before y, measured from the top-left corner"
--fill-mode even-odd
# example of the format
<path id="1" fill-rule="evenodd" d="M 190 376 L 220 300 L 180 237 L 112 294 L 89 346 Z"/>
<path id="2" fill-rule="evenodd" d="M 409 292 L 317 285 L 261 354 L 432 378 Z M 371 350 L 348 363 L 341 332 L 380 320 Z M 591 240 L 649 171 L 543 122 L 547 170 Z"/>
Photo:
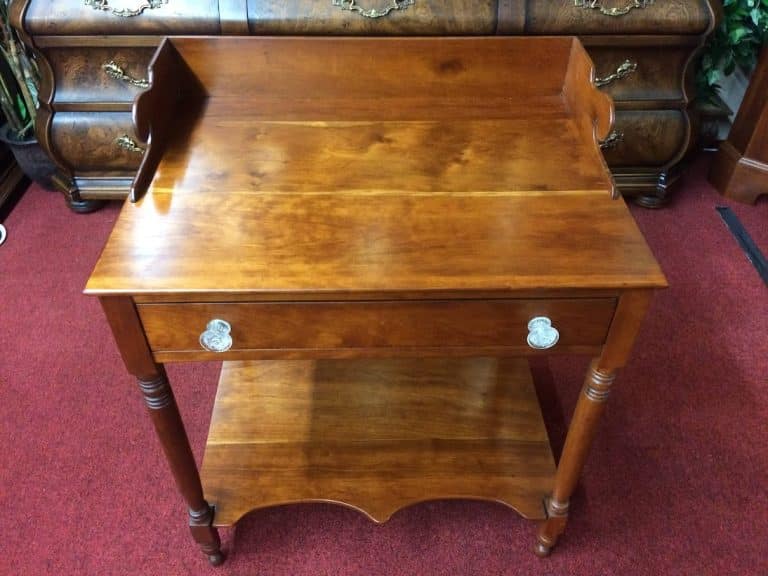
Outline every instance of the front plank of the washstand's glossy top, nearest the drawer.
<path id="1" fill-rule="evenodd" d="M 607 186 L 582 195 L 411 200 L 396 193 L 235 194 L 227 210 L 210 194 L 152 191 L 123 208 L 88 292 L 249 292 L 284 300 L 324 293 L 349 300 L 358 292 L 424 298 L 450 289 L 498 298 L 539 286 L 663 284 L 626 207 L 605 201 L 608 194 Z M 571 225 L 567 235 L 547 232 L 558 221 Z M 381 238 L 397 241 L 380 247 Z"/>

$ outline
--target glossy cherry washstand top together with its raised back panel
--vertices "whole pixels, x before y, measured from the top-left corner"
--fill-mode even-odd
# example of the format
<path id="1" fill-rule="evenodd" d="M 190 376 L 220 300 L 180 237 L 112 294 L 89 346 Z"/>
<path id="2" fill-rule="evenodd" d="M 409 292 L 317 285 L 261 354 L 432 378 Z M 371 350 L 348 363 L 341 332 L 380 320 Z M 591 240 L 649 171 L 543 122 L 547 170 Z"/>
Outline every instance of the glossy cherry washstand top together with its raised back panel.
<path id="1" fill-rule="evenodd" d="M 346 300 L 664 283 L 626 207 L 610 200 L 596 138 L 611 109 L 572 39 L 172 42 L 208 107 L 180 115 L 91 293 Z M 395 45 L 397 56 L 358 66 L 359 50 Z M 548 73 L 530 73 L 539 66 Z M 134 117 L 151 133 L 145 100 Z"/>

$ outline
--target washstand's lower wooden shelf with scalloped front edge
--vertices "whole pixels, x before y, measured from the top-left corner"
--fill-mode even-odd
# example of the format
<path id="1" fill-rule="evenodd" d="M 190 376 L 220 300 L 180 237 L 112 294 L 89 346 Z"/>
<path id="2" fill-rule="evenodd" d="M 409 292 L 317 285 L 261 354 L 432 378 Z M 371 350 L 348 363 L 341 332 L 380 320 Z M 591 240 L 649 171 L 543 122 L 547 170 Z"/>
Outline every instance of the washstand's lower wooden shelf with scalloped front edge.
<path id="1" fill-rule="evenodd" d="M 386 521 L 425 500 L 545 517 L 555 464 L 525 360 L 225 362 L 201 470 L 214 523 L 296 502 Z"/>

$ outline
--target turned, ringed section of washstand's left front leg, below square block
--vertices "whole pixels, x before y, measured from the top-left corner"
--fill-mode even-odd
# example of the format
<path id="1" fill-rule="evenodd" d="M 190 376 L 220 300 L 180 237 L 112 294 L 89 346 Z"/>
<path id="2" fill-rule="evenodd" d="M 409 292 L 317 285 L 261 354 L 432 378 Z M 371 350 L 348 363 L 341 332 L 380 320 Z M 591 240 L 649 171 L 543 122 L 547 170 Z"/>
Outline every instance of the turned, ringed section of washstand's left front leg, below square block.
<path id="1" fill-rule="evenodd" d="M 162 366 L 151 380 L 139 379 L 152 424 L 160 439 L 179 492 L 189 506 L 189 529 L 208 561 L 218 566 L 224 561 L 218 530 L 213 526 L 213 508 L 203 497 L 200 474 L 184 430 L 173 390 Z"/>

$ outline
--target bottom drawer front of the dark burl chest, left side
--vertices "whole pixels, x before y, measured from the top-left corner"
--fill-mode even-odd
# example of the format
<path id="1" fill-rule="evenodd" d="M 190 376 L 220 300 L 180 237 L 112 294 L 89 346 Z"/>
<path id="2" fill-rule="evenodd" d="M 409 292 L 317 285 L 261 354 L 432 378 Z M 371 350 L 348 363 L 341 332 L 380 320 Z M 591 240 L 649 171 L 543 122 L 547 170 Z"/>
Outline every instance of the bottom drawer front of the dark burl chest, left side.
<path id="1" fill-rule="evenodd" d="M 120 146 L 122 137 L 137 140 L 130 112 L 58 112 L 51 124 L 54 152 L 75 174 L 135 172 L 142 152 Z"/>

